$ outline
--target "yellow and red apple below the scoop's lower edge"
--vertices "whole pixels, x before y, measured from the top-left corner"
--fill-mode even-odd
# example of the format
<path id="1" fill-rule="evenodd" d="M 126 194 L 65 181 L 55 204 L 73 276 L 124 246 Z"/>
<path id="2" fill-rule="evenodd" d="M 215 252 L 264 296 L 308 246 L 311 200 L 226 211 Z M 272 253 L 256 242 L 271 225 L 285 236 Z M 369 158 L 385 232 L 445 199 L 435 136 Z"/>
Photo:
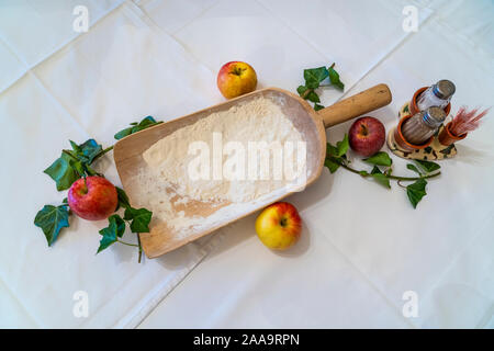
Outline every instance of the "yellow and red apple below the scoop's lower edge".
<path id="1" fill-rule="evenodd" d="M 285 250 L 299 241 L 302 219 L 292 204 L 277 202 L 259 214 L 256 219 L 256 231 L 268 248 Z"/>

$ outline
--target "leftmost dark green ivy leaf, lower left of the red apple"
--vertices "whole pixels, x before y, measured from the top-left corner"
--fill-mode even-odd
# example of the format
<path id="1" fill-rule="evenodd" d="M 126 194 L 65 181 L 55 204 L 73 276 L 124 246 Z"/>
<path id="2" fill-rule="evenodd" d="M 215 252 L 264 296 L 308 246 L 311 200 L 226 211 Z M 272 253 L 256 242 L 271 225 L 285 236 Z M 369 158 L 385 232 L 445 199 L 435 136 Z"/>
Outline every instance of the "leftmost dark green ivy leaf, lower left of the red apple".
<path id="1" fill-rule="evenodd" d="M 45 205 L 34 218 L 34 225 L 42 228 L 48 246 L 52 246 L 58 238 L 61 228 L 68 227 L 68 210 L 66 205 Z"/>

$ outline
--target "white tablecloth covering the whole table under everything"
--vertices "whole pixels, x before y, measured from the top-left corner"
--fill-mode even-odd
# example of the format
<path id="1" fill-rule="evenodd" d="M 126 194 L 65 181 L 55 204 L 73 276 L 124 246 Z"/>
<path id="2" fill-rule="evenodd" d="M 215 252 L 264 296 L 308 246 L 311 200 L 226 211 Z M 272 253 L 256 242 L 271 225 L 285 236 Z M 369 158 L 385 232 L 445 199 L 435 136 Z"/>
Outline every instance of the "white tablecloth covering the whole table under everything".
<path id="1" fill-rule="evenodd" d="M 77 4 L 89 8 L 88 33 L 71 31 Z M 416 33 L 402 29 L 409 4 L 418 10 Z M 43 204 L 64 197 L 42 170 L 68 138 L 110 145 L 120 127 L 143 116 L 170 120 L 221 102 L 215 73 L 228 60 L 251 64 L 260 87 L 293 91 L 303 68 L 333 61 L 345 95 L 385 82 L 393 103 L 372 115 L 386 128 L 417 88 L 441 78 L 457 83 L 453 111 L 490 105 L 492 1 L 4 1 L 0 8 L 0 326 L 494 327 L 492 116 L 459 144 L 456 159 L 441 163 L 444 174 L 415 211 L 398 186 L 386 191 L 325 170 L 289 199 L 304 229 L 287 253 L 260 244 L 255 216 L 144 264 L 122 246 L 93 254 L 104 222 L 72 220 L 49 249 L 32 224 Z M 343 97 L 332 89 L 322 95 L 325 105 Z M 332 128 L 329 140 L 348 127 Z M 394 161 L 396 173 L 406 172 L 405 161 Z M 111 157 L 100 167 L 119 183 Z M 76 291 L 88 292 L 88 318 L 72 315 Z M 418 296 L 417 317 L 402 314 L 406 291 Z"/>

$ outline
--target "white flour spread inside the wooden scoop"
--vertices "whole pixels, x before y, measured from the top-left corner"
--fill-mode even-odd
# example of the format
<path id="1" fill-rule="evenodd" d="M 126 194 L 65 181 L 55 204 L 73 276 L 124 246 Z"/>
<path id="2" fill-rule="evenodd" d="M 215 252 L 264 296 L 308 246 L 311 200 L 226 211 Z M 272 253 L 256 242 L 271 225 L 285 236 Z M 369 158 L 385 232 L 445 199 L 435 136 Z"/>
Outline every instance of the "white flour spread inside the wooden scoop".
<path id="1" fill-rule="evenodd" d="M 214 179 L 213 133 L 221 133 L 223 146 L 228 141 L 240 143 L 244 146 L 246 180 L 229 181 L 225 177 Z M 190 177 L 189 163 L 199 155 L 199 152 L 189 152 L 189 146 L 194 141 L 204 141 L 209 146 L 211 162 L 207 180 L 192 180 Z M 268 144 L 279 141 L 281 145 L 284 145 L 284 141 L 292 141 L 295 145 L 294 149 L 288 154 L 284 149 L 283 157 L 294 159 L 297 141 L 303 139 L 280 106 L 266 98 L 258 98 L 227 111 L 212 113 L 164 137 L 143 154 L 147 167 L 143 169 L 136 182 L 138 189 L 134 191 L 138 193 L 138 196 L 134 197 L 146 199 L 146 203 L 138 205 L 153 211 L 154 216 L 177 233 L 197 226 L 204 229 L 206 223 L 213 225 L 214 222 L 224 220 L 225 217 L 235 217 L 232 211 L 233 205 L 237 205 L 234 207 L 242 211 L 242 204 L 255 202 L 273 192 L 283 193 L 283 189 L 290 183 L 284 180 L 284 177 L 281 180 L 273 180 L 277 165 L 273 165 L 272 154 L 269 162 L 269 179 L 248 180 L 248 144 L 250 141 Z M 232 156 L 235 156 L 235 152 L 222 155 L 220 165 L 225 165 Z M 181 208 L 180 205 L 183 207 L 191 201 L 205 202 L 209 207 L 216 206 L 218 210 L 207 215 L 207 220 L 204 223 L 205 217 L 197 215 L 189 217 L 184 211 L 178 210 Z M 244 206 L 243 210 L 247 207 Z"/>

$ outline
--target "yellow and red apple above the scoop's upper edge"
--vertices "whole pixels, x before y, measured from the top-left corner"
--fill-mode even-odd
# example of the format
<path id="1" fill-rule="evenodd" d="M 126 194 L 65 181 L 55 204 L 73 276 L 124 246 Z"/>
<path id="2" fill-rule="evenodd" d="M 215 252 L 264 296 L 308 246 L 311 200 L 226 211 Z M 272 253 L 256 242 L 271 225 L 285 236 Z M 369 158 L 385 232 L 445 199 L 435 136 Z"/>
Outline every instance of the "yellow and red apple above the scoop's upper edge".
<path id="1" fill-rule="evenodd" d="M 233 99 L 256 90 L 257 75 L 246 63 L 231 61 L 220 69 L 217 88 L 226 99 Z"/>

